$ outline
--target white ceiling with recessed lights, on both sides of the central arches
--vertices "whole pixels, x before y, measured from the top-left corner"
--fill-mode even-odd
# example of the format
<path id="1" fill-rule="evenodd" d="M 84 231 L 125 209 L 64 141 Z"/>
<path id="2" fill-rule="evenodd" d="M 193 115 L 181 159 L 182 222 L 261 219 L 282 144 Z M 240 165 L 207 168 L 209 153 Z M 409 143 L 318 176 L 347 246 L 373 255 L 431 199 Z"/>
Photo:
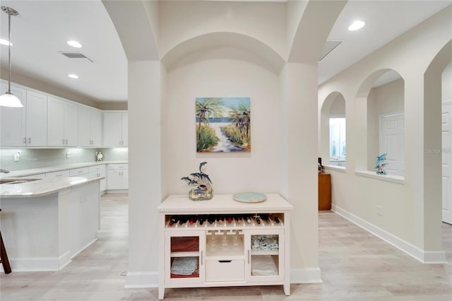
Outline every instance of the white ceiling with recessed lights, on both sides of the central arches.
<path id="1" fill-rule="evenodd" d="M 283 1 L 283 0 L 273 0 Z M 343 41 L 319 62 L 319 83 L 385 45 L 398 35 L 450 5 L 448 1 L 348 1 L 328 40 Z M 93 100 L 127 100 L 127 60 L 104 6 L 92 1 L 0 1 L 19 16 L 11 17 L 12 70 L 60 86 Z M 1 38 L 8 18 L 0 12 Z M 367 25 L 349 32 L 360 18 Z M 83 48 L 66 45 L 78 40 Z M 8 47 L 1 45 L 1 66 L 7 68 Z M 87 59 L 69 59 L 59 52 L 82 52 Z M 80 78 L 73 80 L 69 73 Z M 11 79 L 14 81 L 14 78 Z"/>

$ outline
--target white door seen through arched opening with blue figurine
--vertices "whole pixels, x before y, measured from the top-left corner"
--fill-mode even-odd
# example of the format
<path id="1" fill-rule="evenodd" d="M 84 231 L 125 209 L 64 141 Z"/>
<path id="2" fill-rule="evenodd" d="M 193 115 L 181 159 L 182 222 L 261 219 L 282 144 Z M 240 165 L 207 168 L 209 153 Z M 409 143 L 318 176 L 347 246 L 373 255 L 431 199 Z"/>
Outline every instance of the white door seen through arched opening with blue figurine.
<path id="1" fill-rule="evenodd" d="M 388 175 L 403 176 L 405 131 L 404 115 L 391 114 L 380 116 L 379 155 L 387 153 L 386 172 Z"/>

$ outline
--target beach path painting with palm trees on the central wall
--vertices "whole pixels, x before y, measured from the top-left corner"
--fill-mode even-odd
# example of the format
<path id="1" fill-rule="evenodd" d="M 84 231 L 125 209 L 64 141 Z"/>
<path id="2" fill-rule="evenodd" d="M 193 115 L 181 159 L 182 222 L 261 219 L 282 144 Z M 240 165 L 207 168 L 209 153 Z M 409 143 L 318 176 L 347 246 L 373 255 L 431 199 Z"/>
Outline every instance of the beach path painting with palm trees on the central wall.
<path id="1" fill-rule="evenodd" d="M 196 98 L 196 151 L 251 151 L 249 98 Z"/>

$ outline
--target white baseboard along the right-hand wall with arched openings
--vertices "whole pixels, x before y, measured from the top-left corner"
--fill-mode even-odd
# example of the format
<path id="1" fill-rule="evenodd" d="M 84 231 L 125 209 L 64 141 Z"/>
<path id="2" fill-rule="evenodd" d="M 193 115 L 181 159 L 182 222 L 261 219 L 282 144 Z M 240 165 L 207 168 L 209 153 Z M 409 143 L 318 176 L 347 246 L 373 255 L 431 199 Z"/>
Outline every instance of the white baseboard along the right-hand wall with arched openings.
<path id="1" fill-rule="evenodd" d="M 423 249 L 416 247 L 414 244 L 402 240 L 400 237 L 397 237 L 396 235 L 393 235 L 390 232 L 387 232 L 386 230 L 383 230 L 377 227 L 376 225 L 371 224 L 366 220 L 363 220 L 362 218 L 359 218 L 348 211 L 345 211 L 343 208 L 340 208 L 335 204 L 331 205 L 331 211 L 338 213 L 340 216 L 343 216 L 343 218 L 350 220 L 355 225 L 358 225 L 359 227 L 363 228 L 364 230 L 367 230 L 368 232 L 371 232 L 376 237 L 381 238 L 381 240 L 384 240 L 385 242 L 392 244 L 394 247 L 400 249 L 400 251 L 405 252 L 406 254 L 412 256 L 413 258 L 417 259 L 423 264 L 446 263 L 446 253 L 444 251 L 436 252 L 424 251 Z"/>

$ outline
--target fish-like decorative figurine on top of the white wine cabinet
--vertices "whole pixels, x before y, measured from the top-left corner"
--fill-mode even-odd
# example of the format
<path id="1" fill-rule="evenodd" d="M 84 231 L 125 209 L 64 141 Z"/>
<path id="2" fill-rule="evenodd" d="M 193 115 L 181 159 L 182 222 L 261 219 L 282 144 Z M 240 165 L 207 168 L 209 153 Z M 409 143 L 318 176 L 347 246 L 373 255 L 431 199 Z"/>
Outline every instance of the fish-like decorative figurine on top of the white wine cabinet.
<path id="1" fill-rule="evenodd" d="M 188 177 L 182 177 L 189 184 L 189 198 L 193 201 L 205 201 L 213 198 L 212 181 L 208 175 L 204 173 L 204 165 L 207 162 L 199 164 L 199 172 L 191 173 Z"/>

